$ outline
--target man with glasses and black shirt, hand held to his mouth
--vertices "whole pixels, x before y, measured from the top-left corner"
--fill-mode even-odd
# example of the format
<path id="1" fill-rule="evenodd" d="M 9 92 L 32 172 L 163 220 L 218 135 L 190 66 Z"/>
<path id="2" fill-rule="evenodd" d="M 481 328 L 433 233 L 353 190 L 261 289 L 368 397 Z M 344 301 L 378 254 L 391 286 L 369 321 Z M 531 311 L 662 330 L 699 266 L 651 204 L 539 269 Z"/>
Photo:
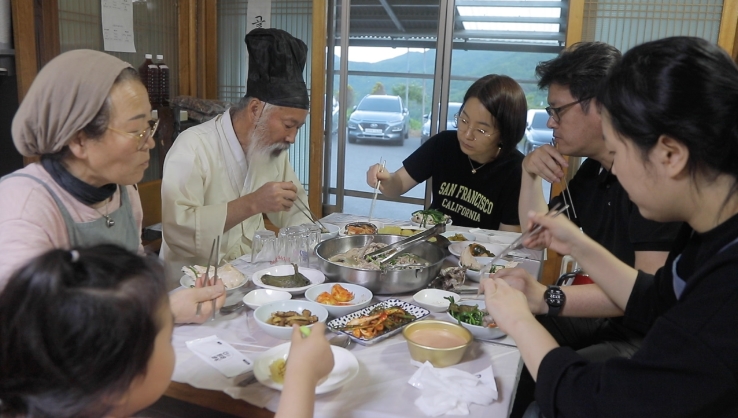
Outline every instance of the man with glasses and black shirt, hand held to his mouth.
<path id="1" fill-rule="evenodd" d="M 654 273 L 664 265 L 680 224 L 644 219 L 617 177 L 610 173 L 613 156 L 605 147 L 600 112 L 593 97 L 605 82 L 609 68 L 619 60 L 620 51 L 613 46 L 581 42 L 536 67 L 538 87 L 548 88 L 547 126 L 553 129 L 554 137 L 550 145 L 535 149 L 523 160 L 518 211 L 525 228 L 529 211 L 545 212 L 549 205 L 567 203 L 570 207 L 566 214 L 585 234 L 623 262 Z M 569 163 L 564 156 L 586 158 L 568 184 L 564 168 Z M 561 183 L 565 188 L 549 205 L 541 179 Z M 529 303 L 547 303 L 547 297 L 553 299 L 559 292 L 555 286 L 549 290 L 517 270 L 507 280 L 526 287 Z M 547 316 L 538 318 L 560 345 L 578 350 L 592 361 L 630 357 L 638 350 L 642 335 L 622 323 L 623 312 L 597 285 L 569 286 L 561 291 L 563 306 L 549 309 Z M 525 370 L 512 417 L 521 416 L 533 401 L 533 388 L 533 380 Z"/>

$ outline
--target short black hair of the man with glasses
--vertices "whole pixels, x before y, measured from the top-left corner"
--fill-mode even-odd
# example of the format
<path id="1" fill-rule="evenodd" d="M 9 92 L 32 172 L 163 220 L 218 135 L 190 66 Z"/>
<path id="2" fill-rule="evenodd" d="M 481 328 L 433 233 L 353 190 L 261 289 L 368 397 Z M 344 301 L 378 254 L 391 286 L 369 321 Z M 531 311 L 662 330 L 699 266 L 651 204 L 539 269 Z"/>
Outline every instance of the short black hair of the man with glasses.
<path id="1" fill-rule="evenodd" d="M 554 83 L 567 86 L 574 99 L 583 100 L 581 106 L 586 112 L 589 99 L 597 96 L 608 71 L 620 58 L 620 51 L 604 42 L 577 42 L 558 57 L 536 66 L 538 88 Z"/>

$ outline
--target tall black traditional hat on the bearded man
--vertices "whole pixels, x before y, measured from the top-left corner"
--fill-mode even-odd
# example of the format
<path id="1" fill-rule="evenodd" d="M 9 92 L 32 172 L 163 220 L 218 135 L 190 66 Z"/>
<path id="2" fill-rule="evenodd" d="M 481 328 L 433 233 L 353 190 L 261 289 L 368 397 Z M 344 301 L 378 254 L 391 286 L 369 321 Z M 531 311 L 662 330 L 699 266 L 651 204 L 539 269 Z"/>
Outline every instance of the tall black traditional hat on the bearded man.
<path id="1" fill-rule="evenodd" d="M 246 97 L 276 106 L 308 109 L 310 98 L 302 78 L 307 45 L 281 29 L 254 29 L 246 34 L 249 75 Z"/>

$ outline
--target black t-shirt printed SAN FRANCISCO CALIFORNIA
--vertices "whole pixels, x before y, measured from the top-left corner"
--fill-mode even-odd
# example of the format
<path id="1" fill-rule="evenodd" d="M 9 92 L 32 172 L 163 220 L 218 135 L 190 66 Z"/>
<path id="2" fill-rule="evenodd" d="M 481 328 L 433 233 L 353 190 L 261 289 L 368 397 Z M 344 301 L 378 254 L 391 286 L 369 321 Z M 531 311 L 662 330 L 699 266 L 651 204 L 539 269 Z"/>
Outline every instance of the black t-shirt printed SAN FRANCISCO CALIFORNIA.
<path id="1" fill-rule="evenodd" d="M 520 225 L 518 198 L 523 154 L 517 149 L 472 174 L 469 157 L 461 151 L 456 131 L 428 139 L 403 161 L 418 183 L 433 177 L 431 208 L 448 214 L 454 225 L 499 229 L 500 223 Z"/>

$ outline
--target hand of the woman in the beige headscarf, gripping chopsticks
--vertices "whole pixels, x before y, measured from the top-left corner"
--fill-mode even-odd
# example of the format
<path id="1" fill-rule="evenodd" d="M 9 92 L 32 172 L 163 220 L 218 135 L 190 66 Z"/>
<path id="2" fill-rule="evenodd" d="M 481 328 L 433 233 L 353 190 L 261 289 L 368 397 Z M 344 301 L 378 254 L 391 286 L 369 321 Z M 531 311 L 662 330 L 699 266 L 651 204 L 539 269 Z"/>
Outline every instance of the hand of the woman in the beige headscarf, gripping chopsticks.
<path id="1" fill-rule="evenodd" d="M 195 280 L 195 287 L 182 289 L 169 294 L 169 305 L 174 314 L 174 322 L 177 324 L 201 324 L 205 322 L 213 312 L 211 300 L 215 299 L 215 309 L 223 307 L 226 298 L 223 281 L 218 279 L 214 285 L 205 286 L 204 274 Z M 200 315 L 197 313 L 197 304 L 201 303 Z"/>

